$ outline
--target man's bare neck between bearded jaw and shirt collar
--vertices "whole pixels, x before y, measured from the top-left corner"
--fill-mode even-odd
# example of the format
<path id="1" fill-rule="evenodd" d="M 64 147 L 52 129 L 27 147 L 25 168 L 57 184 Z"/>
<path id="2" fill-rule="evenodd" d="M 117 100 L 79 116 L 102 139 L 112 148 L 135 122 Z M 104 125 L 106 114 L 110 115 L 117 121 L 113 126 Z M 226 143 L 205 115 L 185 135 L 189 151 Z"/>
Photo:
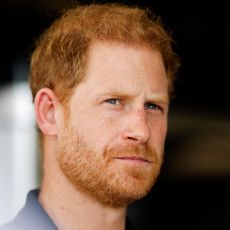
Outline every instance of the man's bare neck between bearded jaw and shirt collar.
<path id="1" fill-rule="evenodd" d="M 105 207 L 77 190 L 60 170 L 54 153 L 44 156 L 39 201 L 58 229 L 125 229 L 126 207 Z"/>

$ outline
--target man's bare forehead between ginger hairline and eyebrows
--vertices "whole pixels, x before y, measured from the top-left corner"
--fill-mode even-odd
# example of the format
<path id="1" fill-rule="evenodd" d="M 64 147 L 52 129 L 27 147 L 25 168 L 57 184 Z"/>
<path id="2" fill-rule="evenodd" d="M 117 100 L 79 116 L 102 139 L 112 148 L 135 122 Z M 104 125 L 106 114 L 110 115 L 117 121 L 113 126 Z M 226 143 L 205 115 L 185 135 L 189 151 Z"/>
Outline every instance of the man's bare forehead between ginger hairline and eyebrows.
<path id="1" fill-rule="evenodd" d="M 85 79 L 80 85 L 86 84 L 89 91 L 145 89 L 168 94 L 165 67 L 157 50 L 110 41 L 90 45 Z"/>

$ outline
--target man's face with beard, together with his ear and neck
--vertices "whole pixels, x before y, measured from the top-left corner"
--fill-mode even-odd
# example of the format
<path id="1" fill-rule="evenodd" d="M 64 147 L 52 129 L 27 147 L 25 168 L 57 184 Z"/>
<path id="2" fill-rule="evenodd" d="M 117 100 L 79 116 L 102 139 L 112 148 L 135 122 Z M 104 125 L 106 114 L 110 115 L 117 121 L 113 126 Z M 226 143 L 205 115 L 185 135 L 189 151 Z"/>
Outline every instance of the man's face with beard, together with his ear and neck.
<path id="1" fill-rule="evenodd" d="M 91 44 L 68 113 L 50 89 L 38 92 L 39 200 L 59 229 L 125 228 L 128 204 L 145 196 L 159 174 L 168 105 L 160 53 L 115 42 Z"/>

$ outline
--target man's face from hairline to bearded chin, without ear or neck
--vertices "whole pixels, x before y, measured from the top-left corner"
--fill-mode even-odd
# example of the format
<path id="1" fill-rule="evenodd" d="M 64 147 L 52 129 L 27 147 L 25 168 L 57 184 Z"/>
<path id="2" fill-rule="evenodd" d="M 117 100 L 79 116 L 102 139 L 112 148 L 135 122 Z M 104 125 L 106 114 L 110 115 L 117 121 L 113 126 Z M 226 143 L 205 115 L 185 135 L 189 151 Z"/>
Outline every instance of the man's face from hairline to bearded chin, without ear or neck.
<path id="1" fill-rule="evenodd" d="M 106 206 L 145 196 L 162 164 L 168 81 L 154 50 L 94 42 L 60 125 L 58 158 L 80 191 Z"/>

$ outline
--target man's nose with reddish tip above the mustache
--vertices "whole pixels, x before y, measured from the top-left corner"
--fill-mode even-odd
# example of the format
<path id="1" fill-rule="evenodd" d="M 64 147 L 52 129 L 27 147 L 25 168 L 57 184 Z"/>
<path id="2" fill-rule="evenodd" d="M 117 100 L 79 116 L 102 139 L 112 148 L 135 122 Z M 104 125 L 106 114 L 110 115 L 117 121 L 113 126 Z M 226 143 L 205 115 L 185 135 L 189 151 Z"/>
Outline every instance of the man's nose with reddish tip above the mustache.
<path id="1" fill-rule="evenodd" d="M 150 127 L 147 121 L 146 112 L 139 110 L 127 116 L 123 139 L 144 144 L 150 139 Z"/>

